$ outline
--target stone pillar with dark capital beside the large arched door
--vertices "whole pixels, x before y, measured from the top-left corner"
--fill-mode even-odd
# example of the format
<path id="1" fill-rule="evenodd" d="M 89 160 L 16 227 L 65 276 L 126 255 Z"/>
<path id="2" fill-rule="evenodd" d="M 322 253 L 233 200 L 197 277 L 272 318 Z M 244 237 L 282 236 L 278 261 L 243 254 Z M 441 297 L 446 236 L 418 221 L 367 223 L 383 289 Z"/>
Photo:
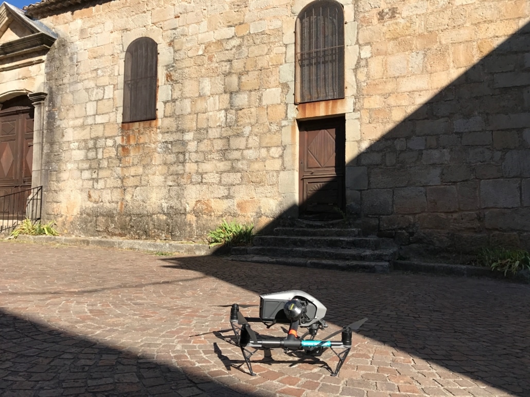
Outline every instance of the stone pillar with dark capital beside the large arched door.
<path id="1" fill-rule="evenodd" d="M 47 93 L 36 92 L 28 94 L 31 103 L 35 107 L 33 121 L 33 165 L 31 173 L 31 187 L 43 186 L 46 181 L 46 170 L 43 169 L 43 138 L 44 138 L 44 102 Z"/>

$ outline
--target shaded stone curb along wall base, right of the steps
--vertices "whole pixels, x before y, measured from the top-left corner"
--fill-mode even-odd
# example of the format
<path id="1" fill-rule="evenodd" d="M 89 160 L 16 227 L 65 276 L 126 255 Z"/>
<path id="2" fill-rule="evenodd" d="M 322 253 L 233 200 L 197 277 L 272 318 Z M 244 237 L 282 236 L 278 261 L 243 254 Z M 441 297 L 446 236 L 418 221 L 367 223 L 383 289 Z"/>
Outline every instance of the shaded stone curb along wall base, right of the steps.
<path id="1" fill-rule="evenodd" d="M 434 273 L 460 277 L 488 277 L 496 279 L 510 279 L 530 284 L 530 271 L 520 270 L 515 275 L 492 272 L 489 268 L 471 265 L 449 265 L 443 263 L 426 263 L 412 260 L 394 260 L 394 270 L 413 273 Z"/>

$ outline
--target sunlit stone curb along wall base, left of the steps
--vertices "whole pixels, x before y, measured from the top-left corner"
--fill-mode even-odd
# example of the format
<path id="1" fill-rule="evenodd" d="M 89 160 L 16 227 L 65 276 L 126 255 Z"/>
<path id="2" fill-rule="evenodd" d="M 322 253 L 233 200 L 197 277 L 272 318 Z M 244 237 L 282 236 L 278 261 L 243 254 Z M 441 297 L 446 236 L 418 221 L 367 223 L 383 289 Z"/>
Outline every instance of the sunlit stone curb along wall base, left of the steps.
<path id="1" fill-rule="evenodd" d="M 97 237 L 73 237 L 73 236 L 23 236 L 16 238 L 16 241 L 32 242 L 55 242 L 66 245 L 90 246 L 103 248 L 136 249 L 149 252 L 179 252 L 180 254 L 190 254 L 197 256 L 211 255 L 216 253 L 215 248 L 209 248 L 207 244 L 185 244 L 165 241 L 145 241 L 145 240 L 119 240 L 103 239 Z"/>

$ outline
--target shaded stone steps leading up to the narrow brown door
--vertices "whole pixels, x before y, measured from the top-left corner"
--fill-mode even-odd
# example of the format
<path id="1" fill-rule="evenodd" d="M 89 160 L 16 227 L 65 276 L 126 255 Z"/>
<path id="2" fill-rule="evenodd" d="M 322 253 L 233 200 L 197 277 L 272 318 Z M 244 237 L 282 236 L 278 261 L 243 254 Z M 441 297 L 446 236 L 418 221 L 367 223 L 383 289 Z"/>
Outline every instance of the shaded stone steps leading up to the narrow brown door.
<path id="1" fill-rule="evenodd" d="M 388 273 L 398 255 L 391 239 L 361 237 L 343 222 L 296 220 L 254 237 L 250 247 L 233 247 L 228 259 L 301 267 Z"/>

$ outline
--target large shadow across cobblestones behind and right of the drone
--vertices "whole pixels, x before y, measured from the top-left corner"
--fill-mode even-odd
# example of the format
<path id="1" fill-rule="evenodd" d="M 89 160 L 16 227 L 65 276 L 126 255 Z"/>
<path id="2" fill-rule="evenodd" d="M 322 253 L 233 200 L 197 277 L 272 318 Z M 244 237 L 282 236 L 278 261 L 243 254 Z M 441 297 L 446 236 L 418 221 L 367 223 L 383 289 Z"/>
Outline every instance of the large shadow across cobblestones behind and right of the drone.
<path id="1" fill-rule="evenodd" d="M 303 290 L 326 306 L 329 322 L 343 326 L 367 317 L 358 333 L 382 347 L 514 395 L 528 396 L 530 391 L 530 294 L 526 285 L 228 260 L 222 261 L 226 267 L 211 266 L 194 257 L 162 260 L 164 267 L 195 270 L 255 294 Z M 228 314 L 229 308 L 227 322 Z"/>

